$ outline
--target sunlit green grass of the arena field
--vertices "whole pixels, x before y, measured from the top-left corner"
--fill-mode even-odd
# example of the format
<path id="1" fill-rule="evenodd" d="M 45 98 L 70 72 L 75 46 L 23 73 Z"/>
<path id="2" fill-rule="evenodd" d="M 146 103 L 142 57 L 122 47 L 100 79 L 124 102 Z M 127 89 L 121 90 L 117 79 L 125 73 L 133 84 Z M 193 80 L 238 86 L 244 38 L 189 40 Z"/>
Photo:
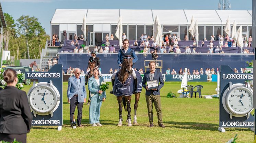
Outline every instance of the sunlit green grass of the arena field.
<path id="1" fill-rule="evenodd" d="M 202 95 L 216 94 L 215 82 L 189 82 L 189 85 L 202 85 Z M 32 85 L 31 85 L 32 86 Z M 31 86 L 25 86 L 26 92 Z M 67 103 L 67 82 L 63 83 L 63 127 L 34 126 L 27 134 L 28 142 L 227 142 L 238 134 L 237 142 L 253 142 L 254 132 L 249 128 L 226 128 L 225 133 L 218 131 L 219 99 L 203 98 L 166 98 L 169 91 L 177 93 L 181 82 L 165 82 L 161 89 L 163 124 L 149 128 L 145 90 L 142 90 L 137 110 L 137 126 L 117 127 L 119 112 L 116 97 L 107 94 L 101 107 L 102 127 L 91 127 L 89 124 L 89 105 L 83 106 L 82 128 L 71 129 L 69 125 L 69 104 Z M 107 90 L 109 93 L 109 90 Z M 177 95 L 178 96 L 178 95 Z M 132 97 L 132 119 L 134 114 Z M 75 113 L 77 115 L 77 113 Z M 124 120 L 127 112 L 123 110 Z"/>

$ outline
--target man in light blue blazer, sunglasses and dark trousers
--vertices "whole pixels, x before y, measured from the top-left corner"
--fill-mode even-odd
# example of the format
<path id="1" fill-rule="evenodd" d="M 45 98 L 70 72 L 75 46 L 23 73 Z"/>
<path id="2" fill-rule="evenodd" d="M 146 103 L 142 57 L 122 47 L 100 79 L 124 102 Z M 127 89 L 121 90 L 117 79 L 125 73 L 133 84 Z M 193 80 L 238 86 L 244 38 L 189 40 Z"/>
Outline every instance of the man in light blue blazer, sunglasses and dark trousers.
<path id="1" fill-rule="evenodd" d="M 68 79 L 68 103 L 70 103 L 70 124 L 72 125 L 73 115 L 77 106 L 77 124 L 82 127 L 81 120 L 83 115 L 83 103 L 86 102 L 86 90 L 85 90 L 85 79 L 81 78 L 81 70 L 79 68 L 74 69 L 75 76 L 69 77 Z"/>

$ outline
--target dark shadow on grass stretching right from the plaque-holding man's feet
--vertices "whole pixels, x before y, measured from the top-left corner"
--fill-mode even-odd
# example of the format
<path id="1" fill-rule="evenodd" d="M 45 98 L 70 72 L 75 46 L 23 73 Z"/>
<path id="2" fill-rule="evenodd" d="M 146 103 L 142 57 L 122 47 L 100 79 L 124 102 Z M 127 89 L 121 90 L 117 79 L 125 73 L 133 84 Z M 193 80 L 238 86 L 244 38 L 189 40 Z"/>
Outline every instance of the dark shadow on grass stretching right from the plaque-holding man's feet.
<path id="1" fill-rule="evenodd" d="M 219 127 L 219 124 L 198 123 L 198 122 L 164 121 L 163 123 L 172 124 L 172 126 L 165 125 L 165 127 L 179 128 L 179 129 L 218 131 L 218 127 Z M 246 131 L 250 129 L 249 128 L 228 128 L 228 130 Z"/>

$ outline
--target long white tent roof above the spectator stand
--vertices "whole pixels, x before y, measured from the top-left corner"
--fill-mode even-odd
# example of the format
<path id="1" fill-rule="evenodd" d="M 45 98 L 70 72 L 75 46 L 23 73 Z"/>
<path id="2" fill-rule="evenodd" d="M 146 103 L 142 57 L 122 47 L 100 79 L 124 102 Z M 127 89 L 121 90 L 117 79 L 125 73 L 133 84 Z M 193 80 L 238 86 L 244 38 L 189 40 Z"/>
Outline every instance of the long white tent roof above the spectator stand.
<path id="1" fill-rule="evenodd" d="M 86 24 L 117 24 L 123 17 L 123 24 L 150 24 L 158 15 L 160 24 L 189 25 L 192 15 L 198 24 L 225 25 L 236 20 L 237 25 L 252 25 L 252 11 L 247 10 L 124 10 L 124 9 L 56 9 L 51 24 L 82 24 L 86 15 Z"/>

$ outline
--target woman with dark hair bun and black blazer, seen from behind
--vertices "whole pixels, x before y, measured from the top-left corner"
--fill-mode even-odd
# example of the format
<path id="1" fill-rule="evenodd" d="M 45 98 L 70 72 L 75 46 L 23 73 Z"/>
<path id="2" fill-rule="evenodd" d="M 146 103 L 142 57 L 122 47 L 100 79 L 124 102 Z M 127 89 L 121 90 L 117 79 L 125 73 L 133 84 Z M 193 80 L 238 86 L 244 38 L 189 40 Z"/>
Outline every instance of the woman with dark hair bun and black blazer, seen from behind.
<path id="1" fill-rule="evenodd" d="M 5 70 L 3 79 L 7 86 L 0 90 L 0 141 L 26 143 L 33 119 L 26 92 L 16 88 L 15 70 Z"/>

